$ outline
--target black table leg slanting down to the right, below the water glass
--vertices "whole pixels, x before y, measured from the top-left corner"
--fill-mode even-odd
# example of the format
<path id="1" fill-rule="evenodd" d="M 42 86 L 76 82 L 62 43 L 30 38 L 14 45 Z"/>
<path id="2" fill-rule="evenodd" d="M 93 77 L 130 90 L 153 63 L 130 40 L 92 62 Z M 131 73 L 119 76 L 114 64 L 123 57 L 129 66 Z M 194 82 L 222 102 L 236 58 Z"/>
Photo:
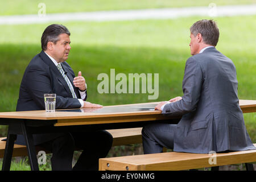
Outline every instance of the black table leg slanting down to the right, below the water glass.
<path id="1" fill-rule="evenodd" d="M 36 150 L 32 138 L 32 134 L 28 132 L 26 123 L 22 124 L 23 137 L 27 146 L 28 159 L 30 160 L 30 168 L 32 171 L 39 171 L 38 159 L 36 158 Z"/>

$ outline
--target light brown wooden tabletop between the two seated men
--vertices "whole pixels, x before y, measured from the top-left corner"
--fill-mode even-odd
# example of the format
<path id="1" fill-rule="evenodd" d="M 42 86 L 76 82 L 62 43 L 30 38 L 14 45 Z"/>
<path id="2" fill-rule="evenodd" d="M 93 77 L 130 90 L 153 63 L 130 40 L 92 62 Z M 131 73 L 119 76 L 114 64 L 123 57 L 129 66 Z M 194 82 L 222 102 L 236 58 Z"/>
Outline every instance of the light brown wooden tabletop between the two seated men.
<path id="1" fill-rule="evenodd" d="M 161 111 L 152 110 L 159 102 L 104 106 L 101 109 L 68 109 L 47 113 L 45 110 L 2 112 L 1 118 L 57 120 L 55 126 L 133 122 L 166 119 Z M 240 100 L 243 113 L 256 112 L 256 100 Z"/>

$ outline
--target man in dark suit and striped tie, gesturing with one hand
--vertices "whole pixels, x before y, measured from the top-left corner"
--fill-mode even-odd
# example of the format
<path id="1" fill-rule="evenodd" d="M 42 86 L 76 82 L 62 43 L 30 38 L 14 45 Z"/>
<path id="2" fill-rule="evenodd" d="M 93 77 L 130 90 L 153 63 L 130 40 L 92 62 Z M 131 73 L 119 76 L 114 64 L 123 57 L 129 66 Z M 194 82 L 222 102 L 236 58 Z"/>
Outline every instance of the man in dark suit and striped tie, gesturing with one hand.
<path id="1" fill-rule="evenodd" d="M 75 73 L 68 65 L 70 32 L 60 24 L 51 24 L 44 30 L 42 51 L 28 64 L 20 84 L 16 111 L 43 110 L 44 94 L 56 94 L 56 109 L 102 107 L 85 101 L 87 85 L 81 72 Z M 112 135 L 107 131 L 45 133 L 33 135 L 34 144 L 52 151 L 53 170 L 71 170 L 75 147 L 83 149 L 73 169 L 97 170 L 98 159 L 105 158 L 112 146 Z M 24 138 L 18 135 L 18 144 Z"/>

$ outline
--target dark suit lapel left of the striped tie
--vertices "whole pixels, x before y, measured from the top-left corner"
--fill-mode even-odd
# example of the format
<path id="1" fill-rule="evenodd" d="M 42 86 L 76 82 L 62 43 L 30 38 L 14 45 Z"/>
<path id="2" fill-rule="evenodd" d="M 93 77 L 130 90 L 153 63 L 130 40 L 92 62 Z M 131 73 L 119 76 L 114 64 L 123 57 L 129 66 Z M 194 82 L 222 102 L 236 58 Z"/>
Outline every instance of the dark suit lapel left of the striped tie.
<path id="1" fill-rule="evenodd" d="M 55 74 L 56 78 L 61 82 L 61 84 L 63 84 L 65 90 L 69 93 L 70 97 L 73 97 L 72 93 L 71 93 L 71 91 L 70 91 L 70 89 L 68 87 L 67 82 L 65 81 L 64 77 L 61 75 L 61 73 L 60 73 L 59 69 L 56 67 L 56 65 L 52 62 L 52 60 L 49 59 L 49 57 L 46 55 L 46 53 L 44 51 L 41 51 L 39 56 L 42 58 L 44 63 L 46 63 L 50 67 L 50 69 L 52 69 L 52 71 Z M 70 78 L 69 78 L 69 80 L 70 80 Z M 73 85 L 73 83 L 72 83 L 72 85 Z"/>

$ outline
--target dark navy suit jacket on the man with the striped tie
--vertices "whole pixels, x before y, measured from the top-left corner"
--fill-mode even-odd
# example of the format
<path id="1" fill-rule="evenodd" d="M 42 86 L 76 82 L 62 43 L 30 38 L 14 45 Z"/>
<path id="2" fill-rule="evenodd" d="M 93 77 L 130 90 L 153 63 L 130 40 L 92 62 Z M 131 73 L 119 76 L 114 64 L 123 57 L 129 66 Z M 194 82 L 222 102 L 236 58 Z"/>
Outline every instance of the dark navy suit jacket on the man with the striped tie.
<path id="1" fill-rule="evenodd" d="M 65 74 L 73 85 L 75 73 L 67 62 L 61 63 Z M 73 85 L 77 98 L 81 98 L 79 89 Z M 27 110 L 44 110 L 44 94 L 56 93 L 56 109 L 80 108 L 79 100 L 72 97 L 72 93 L 67 82 L 61 75 L 59 69 L 51 59 L 44 53 L 40 52 L 28 64 L 22 82 L 20 84 L 19 99 L 16 111 Z M 87 98 L 86 97 L 84 100 Z M 35 144 L 43 143 L 53 138 L 59 137 L 60 134 L 36 134 L 33 135 Z M 24 144 L 22 136 L 18 136 L 17 143 Z"/>

